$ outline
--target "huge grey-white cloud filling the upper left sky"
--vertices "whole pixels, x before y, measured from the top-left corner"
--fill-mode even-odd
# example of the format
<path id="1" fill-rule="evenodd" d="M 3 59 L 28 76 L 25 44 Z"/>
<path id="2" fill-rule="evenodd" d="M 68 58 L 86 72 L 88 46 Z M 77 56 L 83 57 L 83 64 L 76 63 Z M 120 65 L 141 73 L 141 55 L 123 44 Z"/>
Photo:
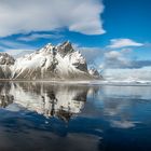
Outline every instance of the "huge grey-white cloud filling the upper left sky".
<path id="1" fill-rule="evenodd" d="M 84 35 L 101 35 L 99 0 L 2 0 L 0 37 L 68 28 Z"/>

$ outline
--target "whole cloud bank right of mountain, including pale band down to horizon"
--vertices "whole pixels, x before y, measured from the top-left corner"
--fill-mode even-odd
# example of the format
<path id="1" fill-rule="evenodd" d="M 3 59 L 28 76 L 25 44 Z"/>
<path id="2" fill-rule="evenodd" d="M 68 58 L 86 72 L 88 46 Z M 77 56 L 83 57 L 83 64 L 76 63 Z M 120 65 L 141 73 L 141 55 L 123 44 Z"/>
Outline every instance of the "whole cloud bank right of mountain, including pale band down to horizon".
<path id="1" fill-rule="evenodd" d="M 100 68 L 107 80 L 151 80 L 151 60 L 132 59 L 133 50 L 109 51 L 104 55 Z"/>

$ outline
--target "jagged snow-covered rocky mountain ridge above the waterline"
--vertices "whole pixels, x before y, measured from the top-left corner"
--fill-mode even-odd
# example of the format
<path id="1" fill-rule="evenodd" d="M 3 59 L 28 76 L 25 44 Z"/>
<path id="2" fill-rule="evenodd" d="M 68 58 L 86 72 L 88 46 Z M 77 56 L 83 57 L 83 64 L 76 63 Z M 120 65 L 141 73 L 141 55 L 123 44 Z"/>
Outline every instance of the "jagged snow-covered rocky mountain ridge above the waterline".
<path id="1" fill-rule="evenodd" d="M 2 59 L 1 59 L 2 58 Z M 13 80 L 99 79 L 87 70 L 85 58 L 74 51 L 69 41 L 44 47 L 14 59 L 0 54 L 0 78 Z"/>

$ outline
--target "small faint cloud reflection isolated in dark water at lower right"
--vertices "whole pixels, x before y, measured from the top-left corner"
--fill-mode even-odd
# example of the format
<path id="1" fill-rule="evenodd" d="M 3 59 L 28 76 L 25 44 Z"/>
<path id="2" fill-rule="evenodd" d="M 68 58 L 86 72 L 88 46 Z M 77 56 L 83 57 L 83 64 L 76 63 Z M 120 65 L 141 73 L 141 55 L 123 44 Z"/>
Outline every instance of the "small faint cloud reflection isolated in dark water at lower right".
<path id="1" fill-rule="evenodd" d="M 111 126 L 116 128 L 133 128 L 136 126 L 136 123 L 139 122 L 132 122 L 132 121 L 111 121 Z"/>

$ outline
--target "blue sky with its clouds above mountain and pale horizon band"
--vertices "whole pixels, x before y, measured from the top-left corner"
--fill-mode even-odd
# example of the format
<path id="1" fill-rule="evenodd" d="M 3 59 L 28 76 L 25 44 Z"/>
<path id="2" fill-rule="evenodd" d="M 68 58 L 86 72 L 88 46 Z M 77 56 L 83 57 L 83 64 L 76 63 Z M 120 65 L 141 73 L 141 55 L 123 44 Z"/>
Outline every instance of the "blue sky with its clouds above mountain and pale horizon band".
<path id="1" fill-rule="evenodd" d="M 100 68 L 151 67 L 151 0 L 0 1 L 0 51 L 69 40 Z"/>

